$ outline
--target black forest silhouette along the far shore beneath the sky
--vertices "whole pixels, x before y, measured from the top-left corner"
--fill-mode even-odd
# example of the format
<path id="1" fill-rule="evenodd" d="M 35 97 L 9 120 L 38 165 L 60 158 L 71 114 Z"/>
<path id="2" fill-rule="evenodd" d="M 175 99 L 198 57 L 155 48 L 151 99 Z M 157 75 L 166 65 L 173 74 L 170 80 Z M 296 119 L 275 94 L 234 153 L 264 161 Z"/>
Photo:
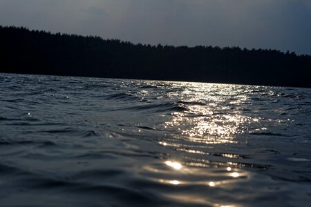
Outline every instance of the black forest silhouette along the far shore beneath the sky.
<path id="1" fill-rule="evenodd" d="M 311 57 L 238 47 L 158 46 L 0 26 L 0 72 L 311 88 Z"/>

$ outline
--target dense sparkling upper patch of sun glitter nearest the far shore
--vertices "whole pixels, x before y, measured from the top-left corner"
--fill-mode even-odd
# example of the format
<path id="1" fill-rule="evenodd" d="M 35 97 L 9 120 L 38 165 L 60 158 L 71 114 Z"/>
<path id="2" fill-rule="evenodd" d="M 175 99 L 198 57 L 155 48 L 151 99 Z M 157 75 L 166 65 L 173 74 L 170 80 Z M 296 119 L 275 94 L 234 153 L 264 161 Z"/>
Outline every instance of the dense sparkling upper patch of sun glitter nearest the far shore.
<path id="1" fill-rule="evenodd" d="M 238 95 L 234 86 L 189 83 L 179 98 L 185 110 L 173 112 L 165 128 L 176 129 L 183 139 L 196 143 L 234 144 L 235 136 L 245 132 L 245 123 L 260 120 L 241 113 L 247 96 Z M 234 106 L 239 110 L 232 110 Z"/>

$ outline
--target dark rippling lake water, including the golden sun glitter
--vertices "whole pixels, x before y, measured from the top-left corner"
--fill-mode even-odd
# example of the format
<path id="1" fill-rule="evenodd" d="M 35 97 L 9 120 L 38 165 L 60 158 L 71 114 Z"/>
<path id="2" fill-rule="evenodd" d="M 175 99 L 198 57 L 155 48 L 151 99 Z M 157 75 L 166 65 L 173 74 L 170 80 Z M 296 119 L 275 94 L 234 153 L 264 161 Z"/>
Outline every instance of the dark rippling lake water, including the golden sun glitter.
<path id="1" fill-rule="evenodd" d="M 309 206 L 311 90 L 0 74 L 0 206 Z"/>

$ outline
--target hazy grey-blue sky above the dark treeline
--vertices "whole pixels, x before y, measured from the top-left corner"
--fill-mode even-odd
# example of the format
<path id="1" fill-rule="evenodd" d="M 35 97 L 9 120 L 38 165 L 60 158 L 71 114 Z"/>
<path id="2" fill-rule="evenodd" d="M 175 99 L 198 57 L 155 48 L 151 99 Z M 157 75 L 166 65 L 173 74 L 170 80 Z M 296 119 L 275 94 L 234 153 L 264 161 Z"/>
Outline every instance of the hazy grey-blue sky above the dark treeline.
<path id="1" fill-rule="evenodd" d="M 311 0 L 0 0 L 0 25 L 311 55 Z"/>

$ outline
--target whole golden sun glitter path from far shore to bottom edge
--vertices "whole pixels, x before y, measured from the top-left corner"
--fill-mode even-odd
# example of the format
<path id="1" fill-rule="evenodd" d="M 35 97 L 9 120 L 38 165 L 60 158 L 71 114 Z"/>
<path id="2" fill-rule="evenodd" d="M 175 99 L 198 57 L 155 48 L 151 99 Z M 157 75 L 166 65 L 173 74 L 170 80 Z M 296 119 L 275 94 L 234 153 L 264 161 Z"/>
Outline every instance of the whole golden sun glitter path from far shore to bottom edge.
<path id="1" fill-rule="evenodd" d="M 170 100 L 165 106 L 169 111 L 157 128 L 164 134 L 153 141 L 158 160 L 143 168 L 144 176 L 169 189 L 161 191 L 164 197 L 189 206 L 236 206 L 236 197 L 224 197 L 253 179 L 252 170 L 245 169 L 265 169 L 244 151 L 245 144 L 252 146 L 247 134 L 267 130 L 264 124 L 272 120 L 260 117 L 261 108 L 252 105 L 248 86 L 174 84 L 173 92 L 161 94 Z M 219 192 L 227 196 L 213 199 Z"/>

